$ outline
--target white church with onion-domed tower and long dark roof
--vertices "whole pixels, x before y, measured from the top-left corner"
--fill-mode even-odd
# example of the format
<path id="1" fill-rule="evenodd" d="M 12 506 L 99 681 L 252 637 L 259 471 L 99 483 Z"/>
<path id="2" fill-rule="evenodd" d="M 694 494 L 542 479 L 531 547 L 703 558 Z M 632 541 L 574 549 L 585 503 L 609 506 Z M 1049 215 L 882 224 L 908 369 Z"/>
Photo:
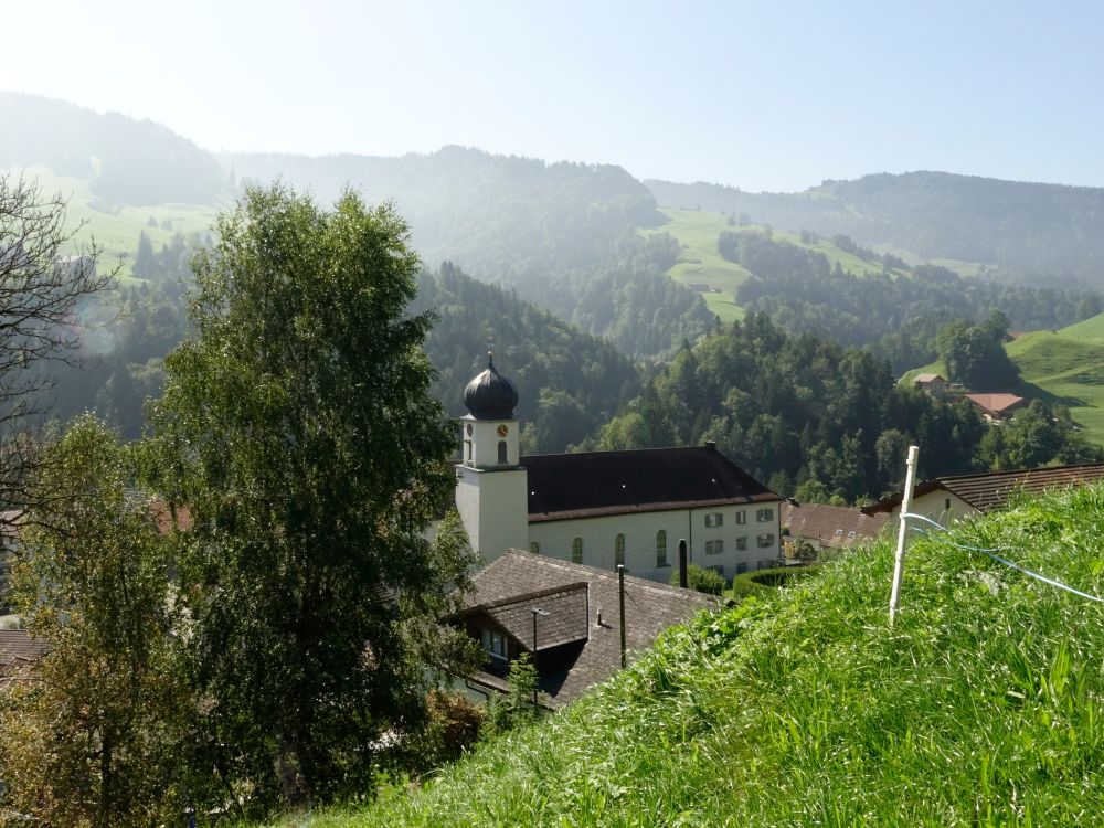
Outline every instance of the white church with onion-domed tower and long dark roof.
<path id="1" fill-rule="evenodd" d="M 729 580 L 779 558 L 783 498 L 712 443 L 521 457 L 518 391 L 492 358 L 464 404 L 456 507 L 487 562 L 521 549 L 667 583 L 681 540 Z"/>

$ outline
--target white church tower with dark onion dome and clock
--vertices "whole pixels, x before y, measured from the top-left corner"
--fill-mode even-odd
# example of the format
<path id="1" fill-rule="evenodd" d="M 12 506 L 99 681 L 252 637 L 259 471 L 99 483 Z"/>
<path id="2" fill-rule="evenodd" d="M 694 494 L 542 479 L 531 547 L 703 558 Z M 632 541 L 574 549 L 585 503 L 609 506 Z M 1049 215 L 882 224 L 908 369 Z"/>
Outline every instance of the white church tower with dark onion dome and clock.
<path id="1" fill-rule="evenodd" d="M 491 354 L 464 389 L 464 404 L 456 509 L 471 549 L 493 561 L 508 549 L 529 549 L 529 498 L 513 416 L 518 390 L 495 370 Z"/>

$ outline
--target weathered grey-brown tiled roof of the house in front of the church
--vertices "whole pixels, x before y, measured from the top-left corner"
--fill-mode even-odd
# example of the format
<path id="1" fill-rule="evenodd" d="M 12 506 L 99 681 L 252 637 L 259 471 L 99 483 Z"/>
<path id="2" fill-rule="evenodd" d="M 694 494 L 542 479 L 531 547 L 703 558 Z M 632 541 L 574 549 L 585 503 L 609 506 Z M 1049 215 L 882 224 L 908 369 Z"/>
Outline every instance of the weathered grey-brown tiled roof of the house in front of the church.
<path id="1" fill-rule="evenodd" d="M 551 707 L 574 701 L 620 667 L 617 573 L 510 550 L 476 573 L 473 581 L 474 587 L 464 598 L 466 614 L 493 613 L 496 607 L 513 604 L 523 606 L 516 622 L 521 635 L 513 637 L 527 650 L 532 647 L 533 622 L 529 607 L 540 606 L 549 612 L 546 617 L 538 619 L 541 652 L 538 666 L 541 668 L 541 689 Z M 584 593 L 583 588 L 588 592 Z M 563 603 L 552 605 L 549 598 L 554 596 L 563 596 Z M 586 604 L 578 597 L 588 597 L 588 616 Z M 650 647 L 667 627 L 715 606 L 716 598 L 710 595 L 626 575 L 626 647 L 629 651 Z M 556 617 L 561 613 L 569 617 Z M 599 614 L 601 624 L 597 623 Z M 585 624 L 585 639 L 561 646 L 561 658 L 555 659 L 556 654 L 540 644 L 543 629 L 551 631 L 562 626 L 567 630 L 566 640 L 577 635 L 580 622 Z M 481 680 L 481 677 L 480 673 L 473 678 Z M 484 683 L 497 688 L 495 682 Z"/>

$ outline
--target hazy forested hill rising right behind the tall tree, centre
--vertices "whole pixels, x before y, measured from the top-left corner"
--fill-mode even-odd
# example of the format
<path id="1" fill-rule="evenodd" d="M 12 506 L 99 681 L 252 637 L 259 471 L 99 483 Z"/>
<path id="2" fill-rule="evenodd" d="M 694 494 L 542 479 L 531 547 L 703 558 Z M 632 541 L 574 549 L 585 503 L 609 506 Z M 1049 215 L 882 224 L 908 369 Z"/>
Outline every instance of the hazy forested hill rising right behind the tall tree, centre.
<path id="1" fill-rule="evenodd" d="M 351 184 L 394 201 L 425 262 L 449 261 L 517 289 L 623 353 L 670 353 L 712 325 L 701 298 L 666 276 L 678 245 L 638 227 L 664 222 L 619 167 L 546 163 L 446 147 L 401 158 L 224 156 L 238 181 L 283 178 L 322 202 Z"/>

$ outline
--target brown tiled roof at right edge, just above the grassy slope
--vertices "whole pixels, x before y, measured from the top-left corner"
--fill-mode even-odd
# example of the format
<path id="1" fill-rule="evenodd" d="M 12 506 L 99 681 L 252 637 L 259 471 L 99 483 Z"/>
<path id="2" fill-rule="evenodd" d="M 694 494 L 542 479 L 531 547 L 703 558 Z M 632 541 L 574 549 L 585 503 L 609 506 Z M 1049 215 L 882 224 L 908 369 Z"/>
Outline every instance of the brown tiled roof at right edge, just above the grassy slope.
<path id="1" fill-rule="evenodd" d="M 992 471 L 984 475 L 959 475 L 935 477 L 916 487 L 914 497 L 944 489 L 959 497 L 979 512 L 999 509 L 1012 495 L 1026 491 L 1038 493 L 1050 489 L 1104 480 L 1104 463 L 1086 466 L 1052 466 L 1050 468 L 1018 469 L 1016 471 Z M 893 495 L 877 503 L 863 507 L 868 514 L 890 512 L 901 505 L 902 495 Z"/>

